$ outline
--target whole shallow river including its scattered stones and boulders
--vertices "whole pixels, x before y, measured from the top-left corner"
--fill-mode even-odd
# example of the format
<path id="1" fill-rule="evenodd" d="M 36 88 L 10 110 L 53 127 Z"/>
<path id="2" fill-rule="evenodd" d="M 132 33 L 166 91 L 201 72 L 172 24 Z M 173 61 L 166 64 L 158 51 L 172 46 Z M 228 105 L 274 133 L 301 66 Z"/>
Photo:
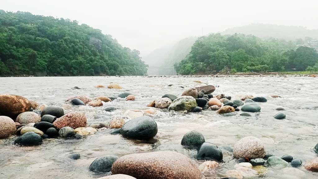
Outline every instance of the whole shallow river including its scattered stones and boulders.
<path id="1" fill-rule="evenodd" d="M 6 100 L 20 104 L 9 112 L 0 104 L 1 115 L 25 125 L 16 131 L 1 118 L 0 178 L 318 177 L 315 77 L 0 80 L 1 94 L 26 98 Z"/>

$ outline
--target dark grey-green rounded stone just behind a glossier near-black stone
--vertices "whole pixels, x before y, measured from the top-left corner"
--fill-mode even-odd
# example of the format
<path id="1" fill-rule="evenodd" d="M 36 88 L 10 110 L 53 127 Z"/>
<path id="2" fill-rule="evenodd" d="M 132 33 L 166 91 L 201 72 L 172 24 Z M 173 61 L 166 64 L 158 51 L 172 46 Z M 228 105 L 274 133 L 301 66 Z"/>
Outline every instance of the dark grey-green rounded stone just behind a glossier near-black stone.
<path id="1" fill-rule="evenodd" d="M 181 145 L 199 147 L 205 142 L 204 136 L 198 131 L 190 131 L 184 134 Z"/>

